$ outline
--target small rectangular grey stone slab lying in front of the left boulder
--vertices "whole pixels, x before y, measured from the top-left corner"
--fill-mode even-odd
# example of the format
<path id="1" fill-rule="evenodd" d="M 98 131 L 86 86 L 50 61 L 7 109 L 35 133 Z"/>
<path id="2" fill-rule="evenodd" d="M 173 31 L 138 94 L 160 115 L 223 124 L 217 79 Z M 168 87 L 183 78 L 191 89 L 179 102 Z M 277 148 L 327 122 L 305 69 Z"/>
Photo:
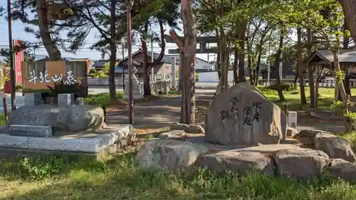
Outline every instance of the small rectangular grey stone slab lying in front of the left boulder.
<path id="1" fill-rule="evenodd" d="M 10 125 L 9 135 L 27 137 L 52 137 L 52 127 L 38 125 Z"/>

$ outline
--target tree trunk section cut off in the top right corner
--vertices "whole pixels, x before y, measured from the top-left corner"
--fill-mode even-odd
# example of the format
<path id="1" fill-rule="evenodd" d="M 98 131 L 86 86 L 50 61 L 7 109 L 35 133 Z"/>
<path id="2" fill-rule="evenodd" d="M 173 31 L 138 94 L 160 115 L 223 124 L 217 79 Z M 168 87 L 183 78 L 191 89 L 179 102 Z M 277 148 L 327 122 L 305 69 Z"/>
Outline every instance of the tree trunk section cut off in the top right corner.
<path id="1" fill-rule="evenodd" d="M 345 25 L 353 41 L 356 41 L 356 2 L 355 0 L 339 0 L 339 3 L 345 15 Z"/>

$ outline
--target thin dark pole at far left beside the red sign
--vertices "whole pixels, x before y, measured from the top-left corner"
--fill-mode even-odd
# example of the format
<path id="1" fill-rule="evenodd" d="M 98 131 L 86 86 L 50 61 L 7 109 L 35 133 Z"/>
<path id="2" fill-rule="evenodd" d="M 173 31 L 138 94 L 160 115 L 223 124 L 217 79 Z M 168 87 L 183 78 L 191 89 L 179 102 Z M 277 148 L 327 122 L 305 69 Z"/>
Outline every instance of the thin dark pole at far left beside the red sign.
<path id="1" fill-rule="evenodd" d="M 9 52 L 10 52 L 10 84 L 11 84 L 11 110 L 16 110 L 15 95 L 15 70 L 14 70 L 14 48 L 12 46 L 12 27 L 11 27 L 11 0 L 7 0 L 7 18 L 9 25 Z"/>

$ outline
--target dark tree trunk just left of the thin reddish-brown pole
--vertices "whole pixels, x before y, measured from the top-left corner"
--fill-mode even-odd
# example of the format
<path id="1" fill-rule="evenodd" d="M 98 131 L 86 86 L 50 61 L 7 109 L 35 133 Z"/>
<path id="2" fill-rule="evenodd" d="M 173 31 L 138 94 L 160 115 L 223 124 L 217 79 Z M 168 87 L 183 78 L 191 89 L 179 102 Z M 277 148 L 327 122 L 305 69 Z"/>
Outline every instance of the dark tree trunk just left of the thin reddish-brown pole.
<path id="1" fill-rule="evenodd" d="M 115 87 L 115 65 L 116 65 L 116 27 L 115 27 L 115 10 L 116 1 L 110 1 L 110 68 L 109 68 L 109 93 L 110 100 L 115 101 L 116 87 Z"/>

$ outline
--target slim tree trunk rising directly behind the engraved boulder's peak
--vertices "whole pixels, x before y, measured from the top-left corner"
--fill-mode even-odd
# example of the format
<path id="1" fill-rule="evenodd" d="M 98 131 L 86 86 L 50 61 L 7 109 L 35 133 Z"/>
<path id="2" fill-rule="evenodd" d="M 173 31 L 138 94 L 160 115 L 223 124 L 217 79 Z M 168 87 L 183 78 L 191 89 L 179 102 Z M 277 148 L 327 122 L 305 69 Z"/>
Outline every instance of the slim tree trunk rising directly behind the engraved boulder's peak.
<path id="1" fill-rule="evenodd" d="M 245 33 L 247 23 L 239 29 L 239 83 L 245 81 Z"/>

